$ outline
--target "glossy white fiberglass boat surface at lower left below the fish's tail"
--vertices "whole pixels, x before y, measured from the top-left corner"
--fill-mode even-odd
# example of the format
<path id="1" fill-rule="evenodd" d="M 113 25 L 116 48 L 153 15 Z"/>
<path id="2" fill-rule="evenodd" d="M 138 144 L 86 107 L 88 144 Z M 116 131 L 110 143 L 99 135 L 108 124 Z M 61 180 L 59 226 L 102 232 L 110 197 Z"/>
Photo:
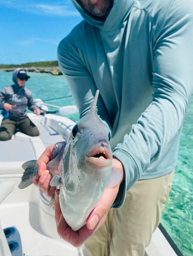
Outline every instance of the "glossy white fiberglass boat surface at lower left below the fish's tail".
<path id="1" fill-rule="evenodd" d="M 25 255 L 78 256 L 77 248 L 59 239 L 54 216 L 46 216 L 42 211 L 38 189 L 31 185 L 27 190 L 19 190 L 18 182 L 15 179 L 15 189 L 0 205 L 2 228 L 18 229 Z"/>

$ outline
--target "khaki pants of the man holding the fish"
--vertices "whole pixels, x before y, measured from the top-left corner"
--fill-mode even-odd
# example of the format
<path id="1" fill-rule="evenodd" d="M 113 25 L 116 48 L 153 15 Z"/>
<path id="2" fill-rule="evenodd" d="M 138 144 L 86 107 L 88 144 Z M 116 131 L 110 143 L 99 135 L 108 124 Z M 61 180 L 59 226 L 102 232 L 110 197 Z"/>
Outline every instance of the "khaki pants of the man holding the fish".
<path id="1" fill-rule="evenodd" d="M 88 256 L 144 256 L 158 227 L 174 170 L 160 178 L 137 181 L 124 205 L 111 208 L 105 223 L 85 242 Z"/>

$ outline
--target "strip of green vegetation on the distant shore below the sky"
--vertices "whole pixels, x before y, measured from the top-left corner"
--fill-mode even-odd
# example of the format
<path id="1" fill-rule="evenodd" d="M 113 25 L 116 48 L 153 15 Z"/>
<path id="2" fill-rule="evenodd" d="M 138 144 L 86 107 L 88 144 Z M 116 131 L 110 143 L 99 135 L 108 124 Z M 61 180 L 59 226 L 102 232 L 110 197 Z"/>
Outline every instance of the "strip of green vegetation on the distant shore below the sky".
<path id="1" fill-rule="evenodd" d="M 57 67 L 58 61 L 41 61 L 41 62 L 28 62 L 28 63 L 22 63 L 20 65 L 17 64 L 0 64 L 0 69 L 9 69 L 9 68 L 36 68 L 36 67 L 42 67 L 42 68 L 52 68 Z"/>

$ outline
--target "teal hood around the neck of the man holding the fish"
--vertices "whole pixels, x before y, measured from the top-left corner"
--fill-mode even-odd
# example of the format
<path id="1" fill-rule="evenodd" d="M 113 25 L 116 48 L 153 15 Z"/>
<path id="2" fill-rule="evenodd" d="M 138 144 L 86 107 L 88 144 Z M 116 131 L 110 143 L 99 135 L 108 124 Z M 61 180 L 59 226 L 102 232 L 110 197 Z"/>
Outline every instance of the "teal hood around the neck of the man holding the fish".
<path id="1" fill-rule="evenodd" d="M 114 0 L 113 7 L 107 16 L 106 21 L 102 22 L 92 18 L 80 5 L 79 0 L 72 0 L 72 3 L 80 12 L 83 19 L 92 26 L 96 26 L 103 31 L 111 31 L 115 28 L 121 27 L 124 18 L 129 15 L 130 9 L 134 2 L 135 0 Z"/>

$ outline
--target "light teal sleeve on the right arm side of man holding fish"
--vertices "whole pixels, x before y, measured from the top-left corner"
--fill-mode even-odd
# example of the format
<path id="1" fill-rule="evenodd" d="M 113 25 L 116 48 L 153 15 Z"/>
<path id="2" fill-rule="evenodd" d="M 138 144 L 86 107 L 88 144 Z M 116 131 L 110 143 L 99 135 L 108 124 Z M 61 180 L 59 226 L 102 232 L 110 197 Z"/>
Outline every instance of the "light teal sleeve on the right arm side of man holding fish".
<path id="1" fill-rule="evenodd" d="M 161 29 L 159 19 L 152 17 L 153 101 L 113 151 L 125 169 L 125 184 L 115 208 L 123 205 L 126 191 L 165 152 L 187 112 L 193 86 L 193 5 L 190 1 L 174 1 L 165 15 Z"/>

